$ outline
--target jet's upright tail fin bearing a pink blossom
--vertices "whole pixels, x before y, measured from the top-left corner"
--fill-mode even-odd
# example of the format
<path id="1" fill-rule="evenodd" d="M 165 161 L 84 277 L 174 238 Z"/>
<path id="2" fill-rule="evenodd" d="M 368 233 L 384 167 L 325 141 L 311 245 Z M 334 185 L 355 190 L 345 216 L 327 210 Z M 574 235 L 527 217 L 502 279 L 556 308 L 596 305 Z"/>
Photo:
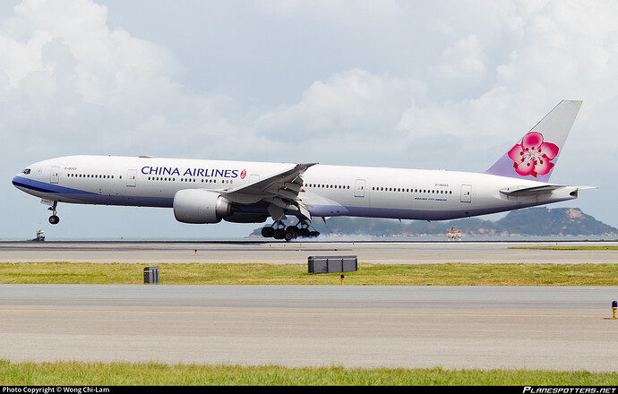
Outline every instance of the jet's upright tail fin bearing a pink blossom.
<path id="1" fill-rule="evenodd" d="M 580 100 L 562 100 L 485 174 L 549 181 L 579 107 Z"/>

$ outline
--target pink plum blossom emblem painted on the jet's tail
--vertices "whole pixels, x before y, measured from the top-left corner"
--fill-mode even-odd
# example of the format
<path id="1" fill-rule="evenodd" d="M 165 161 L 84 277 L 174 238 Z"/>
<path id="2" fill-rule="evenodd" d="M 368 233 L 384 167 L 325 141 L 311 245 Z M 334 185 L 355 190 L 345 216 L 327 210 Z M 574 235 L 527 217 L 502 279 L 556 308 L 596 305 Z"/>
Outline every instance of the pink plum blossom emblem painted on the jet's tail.
<path id="1" fill-rule="evenodd" d="M 521 143 L 509 150 L 509 157 L 515 162 L 513 167 L 520 176 L 537 176 L 547 174 L 558 155 L 558 146 L 543 141 L 543 134 L 530 132 L 521 139 Z"/>

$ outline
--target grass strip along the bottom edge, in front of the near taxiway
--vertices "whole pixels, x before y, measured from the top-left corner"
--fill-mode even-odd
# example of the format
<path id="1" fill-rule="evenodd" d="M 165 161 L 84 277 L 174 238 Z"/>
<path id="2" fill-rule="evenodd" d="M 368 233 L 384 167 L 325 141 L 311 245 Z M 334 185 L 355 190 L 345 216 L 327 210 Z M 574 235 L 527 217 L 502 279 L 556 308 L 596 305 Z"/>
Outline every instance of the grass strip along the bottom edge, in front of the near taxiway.
<path id="1" fill-rule="evenodd" d="M 5 386 L 616 386 L 618 373 L 0 361 Z"/>

